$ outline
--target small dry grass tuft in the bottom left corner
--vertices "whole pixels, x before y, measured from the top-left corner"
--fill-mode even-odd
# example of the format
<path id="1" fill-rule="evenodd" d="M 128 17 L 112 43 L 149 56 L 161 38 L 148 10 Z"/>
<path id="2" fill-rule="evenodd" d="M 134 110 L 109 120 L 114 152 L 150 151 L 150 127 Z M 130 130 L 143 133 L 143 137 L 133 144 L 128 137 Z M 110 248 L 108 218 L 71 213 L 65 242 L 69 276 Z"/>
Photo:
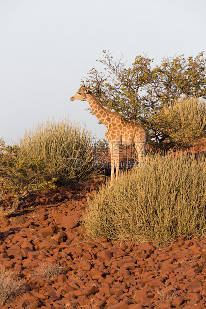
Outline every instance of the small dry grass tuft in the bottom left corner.
<path id="1" fill-rule="evenodd" d="M 14 274 L 5 268 L 0 269 L 0 305 L 11 302 L 25 292 L 25 283 L 14 280 Z"/>

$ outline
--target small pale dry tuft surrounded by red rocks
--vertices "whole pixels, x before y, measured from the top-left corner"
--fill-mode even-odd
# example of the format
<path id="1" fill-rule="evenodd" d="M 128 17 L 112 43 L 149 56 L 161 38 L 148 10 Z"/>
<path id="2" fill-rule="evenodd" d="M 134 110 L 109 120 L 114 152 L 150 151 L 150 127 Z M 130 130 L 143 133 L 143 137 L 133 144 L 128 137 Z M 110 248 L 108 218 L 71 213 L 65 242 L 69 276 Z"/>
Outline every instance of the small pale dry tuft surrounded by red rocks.
<path id="1" fill-rule="evenodd" d="M 62 274 L 63 272 L 64 268 L 59 264 L 43 263 L 32 272 L 32 276 L 52 280 L 54 277 Z"/>

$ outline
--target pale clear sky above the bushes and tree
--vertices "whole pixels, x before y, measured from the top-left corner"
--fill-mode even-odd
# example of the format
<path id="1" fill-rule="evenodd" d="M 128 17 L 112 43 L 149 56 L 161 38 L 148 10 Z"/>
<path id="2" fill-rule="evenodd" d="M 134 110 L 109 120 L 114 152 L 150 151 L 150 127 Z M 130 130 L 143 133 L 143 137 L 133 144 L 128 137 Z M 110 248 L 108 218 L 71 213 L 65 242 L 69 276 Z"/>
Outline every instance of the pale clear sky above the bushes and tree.
<path id="1" fill-rule="evenodd" d="M 206 52 L 206 0 L 0 0 L 0 138 L 69 117 L 105 138 L 106 128 L 70 101 L 102 51 L 161 64 Z M 205 53 L 206 57 L 206 53 Z M 11 144 L 11 143 L 9 143 Z"/>

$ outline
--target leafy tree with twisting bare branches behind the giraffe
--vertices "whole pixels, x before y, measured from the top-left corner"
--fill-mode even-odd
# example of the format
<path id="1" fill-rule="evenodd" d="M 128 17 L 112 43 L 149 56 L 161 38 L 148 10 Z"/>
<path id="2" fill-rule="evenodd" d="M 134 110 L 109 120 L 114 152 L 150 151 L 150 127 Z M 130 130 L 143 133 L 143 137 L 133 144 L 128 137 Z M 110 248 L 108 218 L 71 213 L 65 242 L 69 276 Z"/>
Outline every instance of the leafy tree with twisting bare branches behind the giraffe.
<path id="1" fill-rule="evenodd" d="M 92 68 L 84 83 L 103 106 L 129 121 L 141 122 L 150 132 L 151 143 L 158 147 L 174 146 L 167 130 L 162 109 L 181 97 L 206 98 L 206 59 L 204 52 L 195 58 L 181 56 L 163 58 L 161 65 L 152 67 L 154 59 L 137 56 L 126 67 L 123 56 L 114 60 L 103 51 L 104 72 Z"/>

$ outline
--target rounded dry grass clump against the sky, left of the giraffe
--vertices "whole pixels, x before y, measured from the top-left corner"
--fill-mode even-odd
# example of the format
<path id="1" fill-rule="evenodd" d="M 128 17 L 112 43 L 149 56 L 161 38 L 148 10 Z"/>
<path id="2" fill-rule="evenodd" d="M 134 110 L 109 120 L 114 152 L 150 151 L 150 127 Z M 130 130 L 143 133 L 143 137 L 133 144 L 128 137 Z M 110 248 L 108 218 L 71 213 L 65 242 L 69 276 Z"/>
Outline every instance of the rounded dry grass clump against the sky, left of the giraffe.
<path id="1" fill-rule="evenodd" d="M 23 154 L 42 159 L 48 167 L 48 179 L 68 184 L 92 177 L 96 170 L 91 132 L 67 119 L 47 121 L 25 132 L 19 145 Z"/>

